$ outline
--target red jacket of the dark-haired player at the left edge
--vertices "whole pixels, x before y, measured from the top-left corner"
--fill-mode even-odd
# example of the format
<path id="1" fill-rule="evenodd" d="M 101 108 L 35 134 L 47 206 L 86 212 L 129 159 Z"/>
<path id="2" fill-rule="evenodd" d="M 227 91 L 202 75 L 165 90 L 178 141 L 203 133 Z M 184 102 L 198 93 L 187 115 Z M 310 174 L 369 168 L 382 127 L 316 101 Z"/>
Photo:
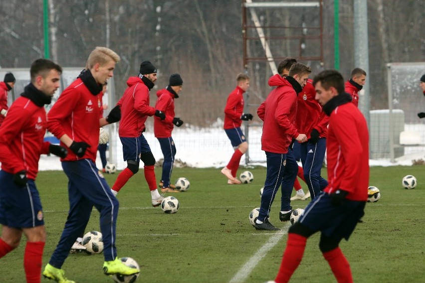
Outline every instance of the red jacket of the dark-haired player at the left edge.
<path id="1" fill-rule="evenodd" d="M 18 97 L 10 106 L 0 127 L 1 169 L 14 174 L 26 170 L 26 177 L 35 180 L 40 154 L 49 153 L 46 133 L 46 111 L 26 97 Z"/>

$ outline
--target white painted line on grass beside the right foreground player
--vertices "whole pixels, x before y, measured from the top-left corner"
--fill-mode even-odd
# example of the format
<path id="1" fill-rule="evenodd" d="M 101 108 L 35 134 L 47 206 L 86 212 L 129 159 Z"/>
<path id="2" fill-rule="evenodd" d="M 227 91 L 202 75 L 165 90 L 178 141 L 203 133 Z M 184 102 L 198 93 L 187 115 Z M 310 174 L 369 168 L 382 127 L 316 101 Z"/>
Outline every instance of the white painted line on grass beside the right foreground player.
<path id="1" fill-rule="evenodd" d="M 280 232 L 276 232 L 270 239 L 239 269 L 229 283 L 244 282 L 252 270 L 257 266 L 261 259 L 287 234 L 289 223 L 285 225 Z M 271 234 L 271 233 L 267 233 Z M 266 235 L 266 234 L 257 234 Z"/>

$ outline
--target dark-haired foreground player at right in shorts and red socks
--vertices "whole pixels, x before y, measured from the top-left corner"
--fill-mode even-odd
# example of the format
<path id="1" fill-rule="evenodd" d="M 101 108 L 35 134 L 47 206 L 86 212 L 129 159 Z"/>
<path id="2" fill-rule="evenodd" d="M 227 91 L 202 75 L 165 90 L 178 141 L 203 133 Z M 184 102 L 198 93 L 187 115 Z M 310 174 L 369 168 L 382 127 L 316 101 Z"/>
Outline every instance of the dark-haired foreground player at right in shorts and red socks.
<path id="1" fill-rule="evenodd" d="M 307 239 L 320 231 L 319 248 L 337 282 L 353 282 L 350 265 L 339 248 L 364 215 L 369 185 L 369 133 L 366 120 L 352 97 L 344 92 L 344 79 L 335 70 L 314 77 L 316 99 L 329 116 L 329 184 L 313 199 L 288 230 L 276 283 L 289 282 L 300 264 Z"/>

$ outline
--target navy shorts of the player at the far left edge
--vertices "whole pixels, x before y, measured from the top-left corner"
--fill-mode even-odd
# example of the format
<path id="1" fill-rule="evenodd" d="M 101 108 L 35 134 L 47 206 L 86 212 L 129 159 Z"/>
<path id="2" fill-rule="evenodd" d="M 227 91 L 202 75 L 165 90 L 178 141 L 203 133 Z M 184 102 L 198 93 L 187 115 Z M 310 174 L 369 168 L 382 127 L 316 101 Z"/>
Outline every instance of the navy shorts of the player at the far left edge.
<path id="1" fill-rule="evenodd" d="M 13 183 L 13 174 L 0 171 L 0 224 L 10 228 L 44 225 L 43 208 L 34 180 L 25 187 Z"/>

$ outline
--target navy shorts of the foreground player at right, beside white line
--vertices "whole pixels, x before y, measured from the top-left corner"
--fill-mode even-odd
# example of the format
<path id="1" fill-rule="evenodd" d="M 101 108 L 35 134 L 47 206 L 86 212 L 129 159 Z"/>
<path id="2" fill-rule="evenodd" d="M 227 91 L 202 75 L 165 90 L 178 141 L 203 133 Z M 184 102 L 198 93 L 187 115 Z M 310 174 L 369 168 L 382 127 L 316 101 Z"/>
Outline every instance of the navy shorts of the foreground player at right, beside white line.
<path id="1" fill-rule="evenodd" d="M 366 201 L 345 200 L 333 205 L 328 193 L 321 192 L 305 208 L 299 222 L 312 231 L 321 231 L 326 237 L 348 240 L 360 218 L 365 214 Z"/>

